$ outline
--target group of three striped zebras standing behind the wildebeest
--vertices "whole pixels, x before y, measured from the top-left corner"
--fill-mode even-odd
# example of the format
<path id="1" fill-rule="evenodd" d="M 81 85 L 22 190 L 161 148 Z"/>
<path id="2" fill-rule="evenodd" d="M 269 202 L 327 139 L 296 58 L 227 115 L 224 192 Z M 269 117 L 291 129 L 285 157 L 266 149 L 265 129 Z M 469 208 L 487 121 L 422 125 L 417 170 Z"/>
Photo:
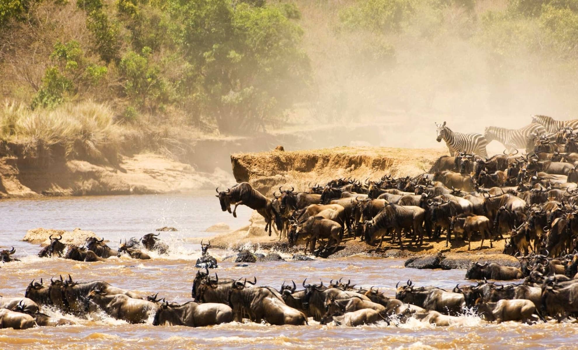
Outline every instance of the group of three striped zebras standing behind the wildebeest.
<path id="1" fill-rule="evenodd" d="M 487 157 L 486 146 L 489 142 L 497 140 L 502 143 L 506 150 L 512 152 L 517 148 L 523 148 L 531 152 L 534 148 L 536 137 L 546 135 L 551 138 L 560 129 L 569 128 L 570 133 L 578 129 L 578 119 L 575 120 L 554 120 L 548 116 L 532 116 L 532 123 L 520 129 L 506 129 L 498 126 L 488 126 L 484 133 L 461 133 L 452 131 L 443 124 L 436 123 L 436 140 L 446 141 L 450 155 L 454 156 L 460 152 L 467 154 L 479 154 Z"/>

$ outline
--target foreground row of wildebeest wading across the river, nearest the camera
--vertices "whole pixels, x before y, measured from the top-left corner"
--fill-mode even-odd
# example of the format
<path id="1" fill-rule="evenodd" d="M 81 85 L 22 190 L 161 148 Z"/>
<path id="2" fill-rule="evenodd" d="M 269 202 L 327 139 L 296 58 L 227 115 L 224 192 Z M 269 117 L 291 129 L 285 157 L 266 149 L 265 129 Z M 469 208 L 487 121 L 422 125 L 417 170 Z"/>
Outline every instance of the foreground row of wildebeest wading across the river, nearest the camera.
<path id="1" fill-rule="evenodd" d="M 548 262 L 545 256 L 525 258 Z M 578 255 L 573 256 L 573 263 Z M 535 262 L 538 263 L 538 262 Z M 553 263 L 549 260 L 549 263 Z M 483 266 L 483 265 L 480 265 Z M 576 264 L 575 264 L 576 266 Z M 471 269 L 470 269 L 471 270 Z M 470 271 L 468 271 L 470 273 Z M 508 277 L 519 278 L 520 275 Z M 50 278 L 50 282 L 31 281 L 25 297 L 0 297 L 0 328 L 26 329 L 38 326 L 71 325 L 74 321 L 43 314 L 43 308 L 60 310 L 63 315 L 86 319 L 92 312 L 105 312 L 128 323 L 151 322 L 158 325 L 209 326 L 232 321 L 266 322 L 271 325 L 307 325 L 309 318 L 321 324 L 358 326 L 384 322 L 399 325 L 410 318 L 447 326 L 460 315 L 478 315 L 498 323 L 534 323 L 549 318 L 562 321 L 578 312 L 576 280 L 564 275 L 544 276 L 533 271 L 522 283 L 497 284 L 485 278 L 473 285 L 456 285 L 452 291 L 436 286 L 414 286 L 408 280 L 395 286 L 395 296 L 379 288 L 362 288 L 343 278 L 328 284 L 291 281 L 279 289 L 257 286 L 257 279 L 219 278 L 197 271 L 191 296 L 186 303 L 117 288 L 105 281 L 74 281 L 71 275 Z"/>

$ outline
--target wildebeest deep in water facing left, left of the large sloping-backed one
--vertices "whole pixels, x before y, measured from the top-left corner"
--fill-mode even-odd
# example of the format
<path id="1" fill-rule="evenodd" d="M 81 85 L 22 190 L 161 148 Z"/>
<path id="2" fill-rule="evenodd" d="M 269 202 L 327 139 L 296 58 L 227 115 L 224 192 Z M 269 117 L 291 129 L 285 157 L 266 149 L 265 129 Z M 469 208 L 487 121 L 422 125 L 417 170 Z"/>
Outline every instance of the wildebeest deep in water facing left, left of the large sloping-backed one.
<path id="1" fill-rule="evenodd" d="M 154 315 L 153 326 L 188 326 L 203 327 L 220 325 L 233 321 L 233 311 L 231 307 L 219 303 L 187 303 L 171 306 L 169 303 L 162 303 Z"/>

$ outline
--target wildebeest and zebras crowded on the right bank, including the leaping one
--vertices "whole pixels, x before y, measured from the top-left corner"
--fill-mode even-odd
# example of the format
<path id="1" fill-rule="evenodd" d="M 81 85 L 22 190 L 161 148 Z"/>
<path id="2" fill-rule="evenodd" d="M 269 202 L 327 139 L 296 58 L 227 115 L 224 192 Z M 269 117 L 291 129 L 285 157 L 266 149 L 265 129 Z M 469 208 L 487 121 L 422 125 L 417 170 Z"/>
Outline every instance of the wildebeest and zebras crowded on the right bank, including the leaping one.
<path id="1" fill-rule="evenodd" d="M 509 148 L 533 144 L 528 154 L 504 151 L 488 158 L 487 142 L 451 132 L 444 122 L 438 125 L 438 140 L 446 140 L 453 155 L 440 157 L 418 176 L 338 178 L 310 184 L 305 192 L 281 186 L 273 198 L 240 183 L 227 191 L 217 188 L 217 197 L 223 211 L 230 213 L 235 205 L 233 215 L 239 205 L 257 210 L 269 236 L 275 223 L 280 239 L 304 243 L 312 254 L 317 241 L 325 242 L 318 252 L 335 251 L 346 232 L 370 244 L 380 239 L 379 246 L 388 235 L 400 247 L 402 234 L 410 245 L 423 244 L 424 235 L 436 240 L 445 234 L 446 247 L 454 234 L 468 239 L 468 249 L 475 234 L 490 247 L 509 234 L 507 254 L 569 254 L 578 248 L 578 133 L 573 133 L 578 120 L 556 124 L 535 116 L 533 121 L 516 131 L 486 130 Z"/>

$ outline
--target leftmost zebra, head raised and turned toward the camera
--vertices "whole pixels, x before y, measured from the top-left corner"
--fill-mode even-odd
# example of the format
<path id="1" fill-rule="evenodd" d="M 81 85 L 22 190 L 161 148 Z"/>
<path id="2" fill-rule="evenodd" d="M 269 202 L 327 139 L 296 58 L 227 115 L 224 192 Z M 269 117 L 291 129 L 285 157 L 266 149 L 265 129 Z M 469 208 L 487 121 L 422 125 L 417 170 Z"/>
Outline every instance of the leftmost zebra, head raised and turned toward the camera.
<path id="1" fill-rule="evenodd" d="M 487 157 L 486 146 L 488 145 L 488 140 L 481 133 L 461 133 L 451 131 L 450 128 L 446 126 L 446 122 L 443 124 L 435 124 L 437 126 L 438 138 L 437 142 L 442 142 L 446 140 L 447 148 L 450 149 L 450 155 L 453 157 L 456 153 L 466 152 L 469 154 L 477 154 L 481 157 Z"/>

